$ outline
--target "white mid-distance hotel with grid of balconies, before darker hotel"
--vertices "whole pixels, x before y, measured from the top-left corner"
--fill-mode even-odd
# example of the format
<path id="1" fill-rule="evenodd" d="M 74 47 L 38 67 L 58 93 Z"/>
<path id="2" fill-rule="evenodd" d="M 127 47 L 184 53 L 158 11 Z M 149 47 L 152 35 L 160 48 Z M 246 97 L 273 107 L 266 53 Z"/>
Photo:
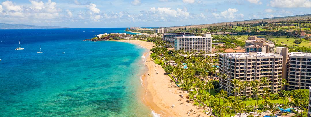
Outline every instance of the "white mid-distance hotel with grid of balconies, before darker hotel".
<path id="1" fill-rule="evenodd" d="M 212 51 L 211 34 L 204 34 L 204 37 L 174 37 L 174 50 L 184 50 L 185 52 L 195 52 L 195 54 L 204 51 Z"/>

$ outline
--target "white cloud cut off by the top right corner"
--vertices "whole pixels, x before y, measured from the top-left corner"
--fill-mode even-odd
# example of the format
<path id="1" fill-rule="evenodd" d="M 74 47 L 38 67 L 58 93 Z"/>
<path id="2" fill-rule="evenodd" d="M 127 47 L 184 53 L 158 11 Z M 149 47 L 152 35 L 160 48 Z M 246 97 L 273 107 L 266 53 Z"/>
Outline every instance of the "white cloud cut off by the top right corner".
<path id="1" fill-rule="evenodd" d="M 271 7 L 277 8 L 311 8 L 310 0 L 271 0 Z"/>

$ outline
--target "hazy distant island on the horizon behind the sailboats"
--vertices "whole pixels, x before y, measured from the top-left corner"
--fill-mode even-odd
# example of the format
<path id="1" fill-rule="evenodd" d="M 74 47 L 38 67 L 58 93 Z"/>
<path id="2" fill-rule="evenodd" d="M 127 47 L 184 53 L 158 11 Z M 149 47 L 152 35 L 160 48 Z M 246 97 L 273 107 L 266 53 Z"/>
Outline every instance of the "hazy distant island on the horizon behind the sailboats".
<path id="1" fill-rule="evenodd" d="M 50 29 L 50 28 L 68 28 L 68 27 L 0 23 L 0 29 Z"/>

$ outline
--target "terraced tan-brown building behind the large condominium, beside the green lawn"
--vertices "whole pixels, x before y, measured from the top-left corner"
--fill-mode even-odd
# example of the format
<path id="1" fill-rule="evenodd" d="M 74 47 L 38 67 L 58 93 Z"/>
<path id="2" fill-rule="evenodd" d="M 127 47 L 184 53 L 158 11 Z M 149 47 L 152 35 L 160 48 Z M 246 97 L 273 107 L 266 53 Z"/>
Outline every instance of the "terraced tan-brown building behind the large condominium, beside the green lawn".
<path id="1" fill-rule="evenodd" d="M 264 38 L 258 38 L 255 36 L 248 37 L 248 40 L 245 41 L 245 52 L 265 52 L 265 53 L 274 53 L 275 44 L 266 42 Z"/>

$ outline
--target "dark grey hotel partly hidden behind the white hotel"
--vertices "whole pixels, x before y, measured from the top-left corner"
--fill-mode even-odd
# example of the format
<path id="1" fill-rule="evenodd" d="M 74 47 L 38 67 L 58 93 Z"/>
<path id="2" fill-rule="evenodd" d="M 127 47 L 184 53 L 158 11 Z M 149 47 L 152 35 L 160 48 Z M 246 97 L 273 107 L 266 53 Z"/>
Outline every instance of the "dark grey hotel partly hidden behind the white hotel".
<path id="1" fill-rule="evenodd" d="M 174 37 L 192 37 L 194 33 L 163 33 L 163 40 L 166 48 L 174 48 Z"/>

